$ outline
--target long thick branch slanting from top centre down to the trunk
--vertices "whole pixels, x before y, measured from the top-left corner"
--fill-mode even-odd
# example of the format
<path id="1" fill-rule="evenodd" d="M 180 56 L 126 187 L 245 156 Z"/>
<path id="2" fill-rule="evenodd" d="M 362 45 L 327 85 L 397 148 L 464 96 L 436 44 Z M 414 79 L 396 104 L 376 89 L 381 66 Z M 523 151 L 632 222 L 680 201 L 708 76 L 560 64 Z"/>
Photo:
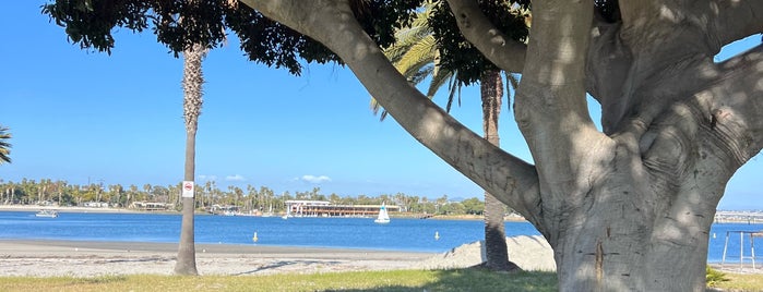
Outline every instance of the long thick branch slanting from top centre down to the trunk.
<path id="1" fill-rule="evenodd" d="M 242 2 L 326 45 L 417 141 L 530 221 L 539 221 L 535 168 L 479 137 L 410 86 L 361 29 L 347 2 Z"/>

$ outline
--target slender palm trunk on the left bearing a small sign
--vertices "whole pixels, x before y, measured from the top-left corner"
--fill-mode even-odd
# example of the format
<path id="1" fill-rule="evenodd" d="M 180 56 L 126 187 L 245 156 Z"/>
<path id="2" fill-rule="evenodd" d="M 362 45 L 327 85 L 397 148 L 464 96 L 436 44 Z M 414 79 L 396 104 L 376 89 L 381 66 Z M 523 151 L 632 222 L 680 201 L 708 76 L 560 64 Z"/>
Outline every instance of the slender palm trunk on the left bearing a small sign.
<path id="1" fill-rule="evenodd" d="M 186 120 L 186 168 L 184 181 L 193 181 L 195 172 L 196 129 L 202 106 L 202 74 L 201 63 L 206 49 L 194 44 L 183 51 L 183 118 Z M 194 197 L 182 198 L 182 223 L 178 243 L 178 259 L 175 264 L 177 275 L 199 275 L 196 270 L 196 253 L 194 243 L 193 211 Z"/>

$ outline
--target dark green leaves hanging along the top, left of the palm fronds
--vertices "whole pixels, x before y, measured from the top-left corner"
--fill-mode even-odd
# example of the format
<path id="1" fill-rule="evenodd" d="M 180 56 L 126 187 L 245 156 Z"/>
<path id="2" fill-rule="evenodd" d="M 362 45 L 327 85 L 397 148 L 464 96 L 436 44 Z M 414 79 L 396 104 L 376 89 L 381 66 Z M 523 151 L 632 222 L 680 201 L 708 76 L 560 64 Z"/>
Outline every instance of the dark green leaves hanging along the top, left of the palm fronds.
<path id="1" fill-rule="evenodd" d="M 351 4 L 366 32 L 380 46 L 389 46 L 395 28 L 410 22 L 420 2 L 357 0 Z M 300 59 L 342 63 L 322 44 L 234 0 L 52 0 L 41 12 L 65 28 L 69 41 L 107 53 L 115 47 L 112 32 L 118 27 L 134 33 L 152 29 L 176 58 L 194 44 L 208 49 L 223 46 L 233 32 L 249 60 L 284 66 L 295 75 L 301 73 Z"/>

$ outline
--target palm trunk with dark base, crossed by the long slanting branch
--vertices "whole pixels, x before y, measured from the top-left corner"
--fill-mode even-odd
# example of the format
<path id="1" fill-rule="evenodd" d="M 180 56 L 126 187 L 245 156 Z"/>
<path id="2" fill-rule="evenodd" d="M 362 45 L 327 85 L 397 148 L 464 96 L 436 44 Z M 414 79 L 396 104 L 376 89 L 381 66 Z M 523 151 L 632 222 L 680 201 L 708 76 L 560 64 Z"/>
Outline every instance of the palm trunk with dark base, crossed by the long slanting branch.
<path id="1" fill-rule="evenodd" d="M 485 138 L 496 146 L 500 145 L 498 119 L 501 113 L 503 82 L 500 71 L 485 72 L 480 80 L 482 99 L 482 130 Z M 509 261 L 506 235 L 504 230 L 503 203 L 485 192 L 485 254 L 486 266 L 492 270 L 514 270 L 518 267 Z"/>

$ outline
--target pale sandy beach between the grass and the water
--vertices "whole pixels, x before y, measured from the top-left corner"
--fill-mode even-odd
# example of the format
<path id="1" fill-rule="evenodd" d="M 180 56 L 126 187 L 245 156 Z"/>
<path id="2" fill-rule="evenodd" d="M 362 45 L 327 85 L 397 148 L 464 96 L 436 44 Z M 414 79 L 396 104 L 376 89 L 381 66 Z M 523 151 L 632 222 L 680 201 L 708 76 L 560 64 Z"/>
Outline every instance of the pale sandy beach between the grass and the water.
<path id="1" fill-rule="evenodd" d="M 528 270 L 553 270 L 553 253 L 539 236 L 506 239 L 510 257 Z M 448 253 L 196 244 L 201 275 L 314 273 L 354 270 L 466 268 L 481 264 L 481 242 Z M 175 243 L 0 240 L 0 276 L 171 275 Z"/>

